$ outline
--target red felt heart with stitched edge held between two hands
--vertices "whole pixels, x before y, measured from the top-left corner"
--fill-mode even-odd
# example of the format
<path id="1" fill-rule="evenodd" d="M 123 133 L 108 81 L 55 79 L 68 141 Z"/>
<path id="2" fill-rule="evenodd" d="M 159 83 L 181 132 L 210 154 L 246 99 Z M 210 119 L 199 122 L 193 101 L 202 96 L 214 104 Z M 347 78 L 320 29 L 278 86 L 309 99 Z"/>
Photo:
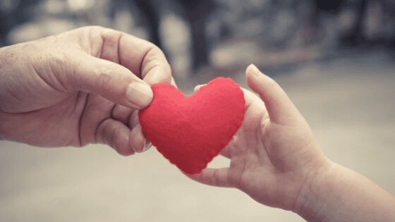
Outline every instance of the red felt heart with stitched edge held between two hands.
<path id="1" fill-rule="evenodd" d="M 142 132 L 184 173 L 200 173 L 243 123 L 243 91 L 217 78 L 186 97 L 168 83 L 153 84 L 154 98 L 139 112 Z"/>

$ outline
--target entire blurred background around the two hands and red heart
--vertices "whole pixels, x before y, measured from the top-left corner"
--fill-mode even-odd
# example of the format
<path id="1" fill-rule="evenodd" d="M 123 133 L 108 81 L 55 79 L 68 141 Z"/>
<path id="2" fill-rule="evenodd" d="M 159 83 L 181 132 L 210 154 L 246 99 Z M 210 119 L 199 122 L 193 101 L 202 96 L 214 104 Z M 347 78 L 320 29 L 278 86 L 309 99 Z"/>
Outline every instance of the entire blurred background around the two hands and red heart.
<path id="1" fill-rule="evenodd" d="M 390 0 L 0 0 L 0 46 L 111 27 L 157 44 L 186 94 L 217 76 L 247 87 L 255 63 L 330 159 L 394 193 L 394 9 Z M 197 184 L 155 149 L 0 147 L 0 221 L 304 221 Z"/>

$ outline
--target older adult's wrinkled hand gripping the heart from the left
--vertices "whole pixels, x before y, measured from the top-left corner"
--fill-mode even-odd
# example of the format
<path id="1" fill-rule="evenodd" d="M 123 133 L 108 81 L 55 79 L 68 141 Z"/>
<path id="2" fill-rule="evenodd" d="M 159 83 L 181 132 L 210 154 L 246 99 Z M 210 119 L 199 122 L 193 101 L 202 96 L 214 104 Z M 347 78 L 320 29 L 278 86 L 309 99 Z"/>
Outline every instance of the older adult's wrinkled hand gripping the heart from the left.
<path id="1" fill-rule="evenodd" d="M 142 152 L 137 111 L 152 100 L 150 84 L 174 84 L 159 48 L 104 27 L 4 47 L 0 61 L 0 138 L 39 147 Z"/>

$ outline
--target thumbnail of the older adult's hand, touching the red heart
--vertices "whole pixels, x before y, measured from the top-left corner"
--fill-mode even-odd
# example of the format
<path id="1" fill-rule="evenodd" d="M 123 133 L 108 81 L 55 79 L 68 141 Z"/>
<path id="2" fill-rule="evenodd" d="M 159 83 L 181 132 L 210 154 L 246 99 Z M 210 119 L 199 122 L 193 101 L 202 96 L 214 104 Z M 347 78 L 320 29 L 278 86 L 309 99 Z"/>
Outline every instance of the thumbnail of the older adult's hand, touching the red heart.
<path id="1" fill-rule="evenodd" d="M 135 106 L 142 109 L 150 104 L 154 97 L 154 93 L 152 92 L 150 85 L 142 82 L 132 82 L 128 86 L 126 96 L 133 104 L 135 104 Z"/>

